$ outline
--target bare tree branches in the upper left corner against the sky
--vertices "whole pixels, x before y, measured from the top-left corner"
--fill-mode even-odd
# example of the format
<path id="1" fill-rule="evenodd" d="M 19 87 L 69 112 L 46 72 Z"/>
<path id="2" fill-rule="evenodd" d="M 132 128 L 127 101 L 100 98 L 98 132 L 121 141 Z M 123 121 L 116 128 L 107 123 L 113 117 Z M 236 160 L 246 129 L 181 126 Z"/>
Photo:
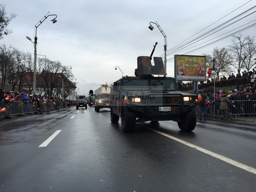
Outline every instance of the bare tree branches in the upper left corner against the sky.
<path id="1" fill-rule="evenodd" d="M 5 11 L 5 4 L 0 4 L 0 39 L 4 38 L 4 35 L 8 35 L 12 33 L 12 29 L 8 29 L 8 25 L 12 21 L 12 19 L 16 18 L 15 13 L 10 13 L 9 16 Z"/>

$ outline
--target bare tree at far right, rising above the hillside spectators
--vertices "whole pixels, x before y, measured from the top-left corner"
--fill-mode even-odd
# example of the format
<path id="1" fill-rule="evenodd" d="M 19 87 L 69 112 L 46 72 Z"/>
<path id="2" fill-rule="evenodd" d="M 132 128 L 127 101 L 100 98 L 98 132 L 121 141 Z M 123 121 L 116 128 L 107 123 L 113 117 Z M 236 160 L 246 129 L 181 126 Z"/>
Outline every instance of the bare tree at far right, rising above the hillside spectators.
<path id="1" fill-rule="evenodd" d="M 246 47 L 251 44 L 252 38 L 250 38 L 250 36 L 246 36 L 242 39 L 242 34 L 233 37 L 233 44 L 229 46 L 229 50 L 232 52 L 234 58 L 234 62 L 232 62 L 231 65 L 234 66 L 237 69 L 237 73 L 240 74 L 241 69 L 244 67 L 245 60 L 248 57 Z M 237 40 L 238 42 L 236 43 Z"/>

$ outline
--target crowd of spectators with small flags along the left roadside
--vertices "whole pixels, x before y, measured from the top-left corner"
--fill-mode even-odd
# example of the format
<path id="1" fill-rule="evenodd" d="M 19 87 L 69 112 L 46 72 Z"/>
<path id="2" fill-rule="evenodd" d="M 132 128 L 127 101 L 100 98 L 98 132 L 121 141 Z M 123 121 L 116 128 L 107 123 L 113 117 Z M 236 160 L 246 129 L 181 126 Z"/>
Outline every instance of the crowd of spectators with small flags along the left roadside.
<path id="1" fill-rule="evenodd" d="M 75 100 L 60 99 L 60 97 L 54 98 L 52 96 L 46 95 L 29 95 L 27 93 L 13 92 L 9 90 L 3 90 L 0 87 L 0 101 L 4 103 L 12 103 L 14 101 L 24 102 L 26 104 L 35 104 L 37 103 L 37 109 L 42 114 L 44 109 L 46 112 L 50 112 L 50 104 L 56 105 L 56 109 L 59 110 L 60 107 L 66 108 L 73 105 L 76 105 Z M 1 106 L 0 106 L 1 107 Z"/>

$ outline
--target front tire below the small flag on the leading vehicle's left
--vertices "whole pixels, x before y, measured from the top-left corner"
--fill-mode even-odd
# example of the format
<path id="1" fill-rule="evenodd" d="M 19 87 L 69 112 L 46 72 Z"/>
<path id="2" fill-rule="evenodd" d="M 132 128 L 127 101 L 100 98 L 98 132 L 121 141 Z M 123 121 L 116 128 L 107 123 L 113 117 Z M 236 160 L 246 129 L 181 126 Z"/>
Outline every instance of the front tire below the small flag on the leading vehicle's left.
<path id="1" fill-rule="evenodd" d="M 123 111 L 121 113 L 121 122 L 124 132 L 134 131 L 136 125 L 136 115 L 131 109 L 128 109 L 126 106 L 123 107 Z"/>

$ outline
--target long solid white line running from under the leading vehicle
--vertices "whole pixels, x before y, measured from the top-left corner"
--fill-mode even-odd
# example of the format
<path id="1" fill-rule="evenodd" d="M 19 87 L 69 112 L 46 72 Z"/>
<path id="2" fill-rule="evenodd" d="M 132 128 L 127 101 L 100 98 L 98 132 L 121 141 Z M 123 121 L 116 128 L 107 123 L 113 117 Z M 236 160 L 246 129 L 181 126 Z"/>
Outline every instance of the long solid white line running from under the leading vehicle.
<path id="1" fill-rule="evenodd" d="M 203 153 L 205 153 L 205 154 L 208 154 L 208 155 L 213 156 L 213 157 L 215 157 L 215 158 L 217 158 L 217 159 L 220 159 L 220 160 L 222 160 L 222 161 L 224 161 L 224 162 L 226 162 L 226 163 L 229 163 L 229 164 L 232 164 L 232 165 L 234 165 L 234 166 L 236 166 L 236 167 L 239 167 L 239 168 L 241 168 L 241 169 L 243 169 L 243 170 L 245 170 L 245 171 L 248 171 L 248 172 L 251 172 L 251 173 L 256 174 L 256 169 L 253 168 L 253 167 L 250 167 L 250 166 L 247 166 L 247 165 L 245 165 L 245 164 L 239 163 L 239 162 L 237 162 L 237 161 L 234 161 L 234 160 L 232 160 L 232 159 L 229 159 L 229 158 L 227 158 L 227 157 L 224 157 L 224 156 L 222 156 L 222 155 L 219 155 L 219 154 L 214 153 L 214 152 L 212 152 L 212 151 L 209 151 L 209 150 L 207 150 L 207 149 L 198 147 L 198 146 L 196 146 L 196 145 L 193 145 L 193 144 L 191 144 L 191 143 L 188 143 L 187 141 L 178 139 L 178 138 L 176 138 L 176 137 L 173 137 L 173 136 L 168 135 L 168 134 L 166 134 L 166 133 L 157 131 L 157 130 L 155 130 L 155 129 L 151 129 L 151 128 L 148 128 L 148 129 L 150 129 L 151 131 L 154 131 L 154 132 L 156 132 L 156 133 L 159 133 L 159 134 L 161 134 L 161 135 L 163 135 L 163 136 L 165 136 L 165 137 L 168 137 L 168 138 L 170 138 L 170 139 L 173 139 L 173 140 L 175 140 L 175 141 L 178 141 L 178 142 L 180 142 L 180 143 L 182 143 L 182 144 L 184 144 L 184 145 L 187 145 L 187 146 L 189 146 L 189 147 L 191 147 L 191 148 L 194 148 L 194 149 L 196 149 L 196 150 L 198 150 L 198 151 L 201 151 L 201 152 L 203 152 Z"/>

